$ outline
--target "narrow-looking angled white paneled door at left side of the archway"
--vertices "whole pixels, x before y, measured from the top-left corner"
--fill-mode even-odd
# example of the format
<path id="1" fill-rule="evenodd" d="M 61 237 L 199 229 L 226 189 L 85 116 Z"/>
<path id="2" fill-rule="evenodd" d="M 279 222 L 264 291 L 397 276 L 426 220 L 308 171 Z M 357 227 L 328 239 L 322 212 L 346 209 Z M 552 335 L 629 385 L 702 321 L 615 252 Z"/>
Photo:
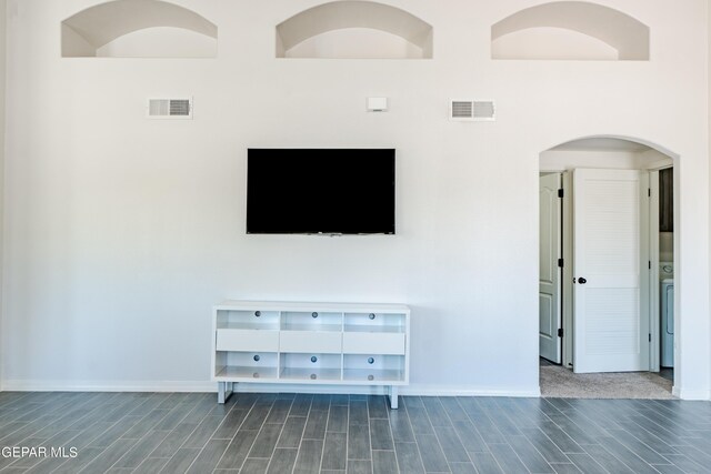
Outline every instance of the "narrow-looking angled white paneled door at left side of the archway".
<path id="1" fill-rule="evenodd" d="M 548 174 L 540 178 L 540 226 L 539 226 L 539 351 L 541 357 L 561 363 L 558 330 L 561 316 L 561 175 Z"/>

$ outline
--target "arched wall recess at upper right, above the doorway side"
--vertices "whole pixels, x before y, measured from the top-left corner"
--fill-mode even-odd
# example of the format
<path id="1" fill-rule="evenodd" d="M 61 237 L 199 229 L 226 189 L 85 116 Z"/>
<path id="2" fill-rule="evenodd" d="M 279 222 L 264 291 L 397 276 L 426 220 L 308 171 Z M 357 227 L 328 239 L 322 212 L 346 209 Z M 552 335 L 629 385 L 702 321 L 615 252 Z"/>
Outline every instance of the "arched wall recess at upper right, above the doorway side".
<path id="1" fill-rule="evenodd" d="M 543 3 L 491 27 L 492 59 L 649 60 L 650 29 L 582 1 Z"/>

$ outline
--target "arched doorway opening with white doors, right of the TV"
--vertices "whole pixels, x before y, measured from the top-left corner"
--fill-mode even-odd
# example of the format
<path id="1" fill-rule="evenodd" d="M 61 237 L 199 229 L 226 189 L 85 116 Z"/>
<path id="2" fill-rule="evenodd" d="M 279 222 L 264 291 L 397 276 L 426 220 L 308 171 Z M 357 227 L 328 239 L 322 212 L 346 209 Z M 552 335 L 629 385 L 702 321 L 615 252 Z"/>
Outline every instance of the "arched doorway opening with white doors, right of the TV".
<path id="1" fill-rule="evenodd" d="M 540 154 L 543 364 L 551 361 L 577 373 L 628 373 L 627 379 L 632 372 L 659 373 L 663 365 L 673 373 L 669 354 L 679 292 L 669 211 L 677 201 L 668 200 L 667 214 L 660 214 L 660 195 L 670 195 L 670 181 L 660 185 L 660 173 L 673 173 L 674 158 L 652 143 L 613 135 L 571 140 Z M 667 223 L 661 232 L 660 220 Z M 662 303 L 671 312 L 662 314 Z M 551 393 L 547 372 L 541 369 L 543 396 Z M 665 391 L 670 395 L 670 382 Z"/>

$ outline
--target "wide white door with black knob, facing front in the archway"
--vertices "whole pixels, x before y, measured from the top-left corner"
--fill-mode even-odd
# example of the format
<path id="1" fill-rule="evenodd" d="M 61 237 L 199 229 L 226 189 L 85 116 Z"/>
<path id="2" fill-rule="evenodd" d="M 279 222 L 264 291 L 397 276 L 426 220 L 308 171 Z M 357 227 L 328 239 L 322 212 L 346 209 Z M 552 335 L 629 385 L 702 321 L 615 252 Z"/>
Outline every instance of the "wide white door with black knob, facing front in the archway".
<path id="1" fill-rule="evenodd" d="M 573 172 L 573 370 L 649 370 L 649 174 Z"/>

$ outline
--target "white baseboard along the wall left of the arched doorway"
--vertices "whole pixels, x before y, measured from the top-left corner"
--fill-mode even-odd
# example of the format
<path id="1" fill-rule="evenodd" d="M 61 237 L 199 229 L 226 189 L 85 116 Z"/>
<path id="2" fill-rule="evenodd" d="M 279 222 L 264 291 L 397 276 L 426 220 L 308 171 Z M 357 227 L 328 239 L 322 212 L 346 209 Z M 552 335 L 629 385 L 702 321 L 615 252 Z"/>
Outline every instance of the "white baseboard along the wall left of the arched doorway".
<path id="1" fill-rule="evenodd" d="M 128 382 L 64 382 L 64 381 L 4 381 L 4 392 L 217 392 L 217 382 L 209 381 L 128 381 Z M 383 395 L 387 387 L 377 385 L 309 385 L 309 384 L 258 384 L 239 383 L 237 392 L 263 393 L 336 393 L 358 395 Z M 539 387 L 490 389 L 471 385 L 424 385 L 411 384 L 398 386 L 400 395 L 422 396 L 515 396 L 538 397 Z"/>

